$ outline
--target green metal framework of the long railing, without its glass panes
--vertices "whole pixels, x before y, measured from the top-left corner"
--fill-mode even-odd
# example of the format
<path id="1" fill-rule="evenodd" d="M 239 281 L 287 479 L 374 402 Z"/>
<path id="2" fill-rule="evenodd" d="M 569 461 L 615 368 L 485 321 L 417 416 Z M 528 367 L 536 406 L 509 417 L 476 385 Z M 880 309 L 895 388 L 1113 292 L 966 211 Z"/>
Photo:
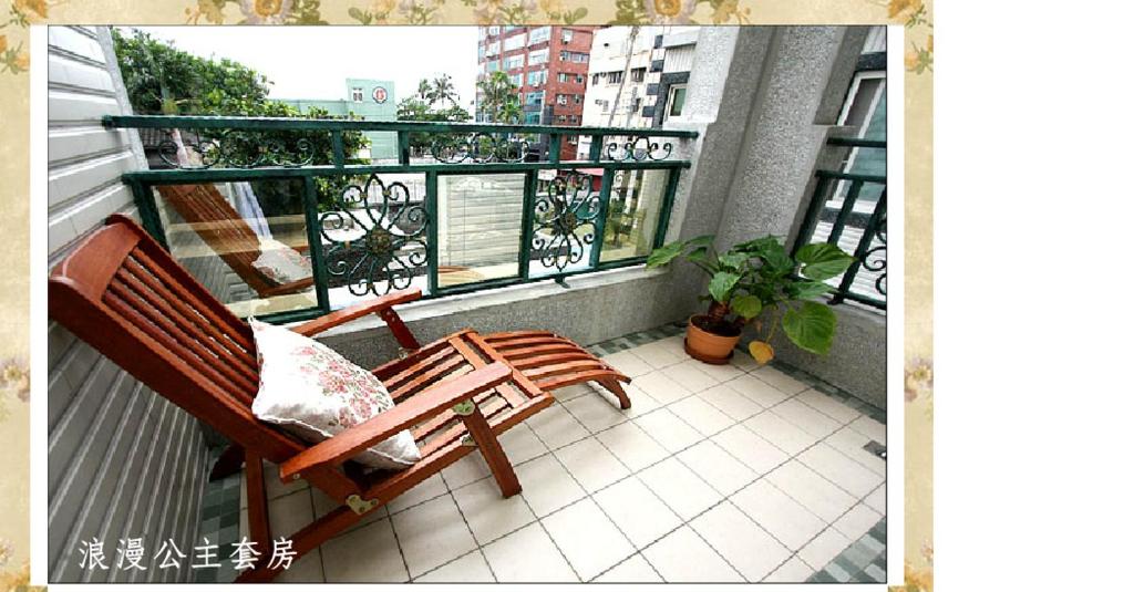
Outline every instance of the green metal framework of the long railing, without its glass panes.
<path id="1" fill-rule="evenodd" d="M 122 175 L 144 227 L 167 248 L 155 187 L 302 181 L 318 306 L 266 316 L 277 322 L 329 312 L 330 289 L 346 288 L 354 296 L 381 295 L 424 278 L 425 297 L 439 297 L 548 279 L 564 282 L 578 273 L 641 264 L 648 253 L 616 261 L 602 256 L 611 195 L 617 193 L 612 191 L 613 179 L 635 171 L 665 175 L 657 198 L 655 226 L 642 229 L 652 232 L 651 248 L 660 246 L 680 171 L 691 164 L 676 158 L 675 142 L 696 137 L 695 132 L 670 129 L 345 119 L 109 116 L 103 124 L 179 130 L 180 145 L 167 138 L 156 147 L 158 157 L 169 168 Z M 350 163 L 344 134 L 353 132 L 397 134 L 397 162 Z M 534 135 L 548 136 L 544 144 L 551 150 L 545 155 L 528 150 Z M 564 136 L 590 136 L 589 158 L 560 160 L 558 149 Z M 412 161 L 409 146 L 421 145 L 422 137 L 429 138 L 426 158 Z M 327 146 L 328 139 L 329 158 L 325 149 L 316 150 Z M 184 152 L 178 157 L 178 150 L 194 158 L 183 158 Z M 595 191 L 596 172 L 601 172 L 601 186 Z M 412 197 L 406 185 L 389 180 L 391 175 L 405 174 L 424 176 L 424 195 Z M 492 174 L 522 175 L 524 179 L 518 271 L 509 277 L 445 286 L 439 281 L 439 180 L 452 175 Z M 623 202 L 618 204 L 619 212 L 626 208 Z M 337 240 L 336 231 L 348 227 L 364 229 L 365 236 Z"/>

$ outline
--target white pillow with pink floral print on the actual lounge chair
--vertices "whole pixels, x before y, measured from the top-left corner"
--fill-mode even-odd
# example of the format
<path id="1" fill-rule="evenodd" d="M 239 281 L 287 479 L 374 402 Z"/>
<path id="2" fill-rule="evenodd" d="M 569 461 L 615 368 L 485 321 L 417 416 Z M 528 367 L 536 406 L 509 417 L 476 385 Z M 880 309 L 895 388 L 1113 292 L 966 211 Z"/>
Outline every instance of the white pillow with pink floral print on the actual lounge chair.
<path id="1" fill-rule="evenodd" d="M 260 392 L 252 401 L 256 417 L 320 442 L 393 407 L 381 381 L 323 344 L 255 319 L 248 324 L 260 364 Z M 413 435 L 403 430 L 353 460 L 400 470 L 421 457 Z"/>

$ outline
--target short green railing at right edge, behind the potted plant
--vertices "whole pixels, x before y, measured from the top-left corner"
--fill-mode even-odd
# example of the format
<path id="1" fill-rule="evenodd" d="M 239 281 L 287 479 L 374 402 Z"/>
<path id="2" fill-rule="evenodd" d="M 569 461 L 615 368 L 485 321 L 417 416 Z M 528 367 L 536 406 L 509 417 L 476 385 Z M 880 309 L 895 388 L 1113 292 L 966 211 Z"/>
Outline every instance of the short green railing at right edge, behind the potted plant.
<path id="1" fill-rule="evenodd" d="M 827 242 L 852 253 L 855 262 L 829 281 L 831 304 L 852 301 L 886 310 L 886 141 L 831 137 L 827 145 L 849 150 L 840 170 L 815 171 L 815 189 L 795 248 Z M 869 151 L 881 152 L 882 175 L 855 166 Z"/>

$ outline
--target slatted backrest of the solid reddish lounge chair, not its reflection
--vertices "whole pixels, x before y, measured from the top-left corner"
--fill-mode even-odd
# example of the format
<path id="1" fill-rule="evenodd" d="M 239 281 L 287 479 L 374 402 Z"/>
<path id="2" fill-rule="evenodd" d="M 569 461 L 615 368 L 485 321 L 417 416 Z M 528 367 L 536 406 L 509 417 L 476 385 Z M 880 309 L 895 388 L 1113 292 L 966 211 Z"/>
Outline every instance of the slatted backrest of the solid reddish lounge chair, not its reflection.
<path id="1" fill-rule="evenodd" d="M 111 215 L 48 279 L 52 319 L 155 392 L 273 462 L 305 445 L 252 414 L 252 330 L 133 220 Z"/>

